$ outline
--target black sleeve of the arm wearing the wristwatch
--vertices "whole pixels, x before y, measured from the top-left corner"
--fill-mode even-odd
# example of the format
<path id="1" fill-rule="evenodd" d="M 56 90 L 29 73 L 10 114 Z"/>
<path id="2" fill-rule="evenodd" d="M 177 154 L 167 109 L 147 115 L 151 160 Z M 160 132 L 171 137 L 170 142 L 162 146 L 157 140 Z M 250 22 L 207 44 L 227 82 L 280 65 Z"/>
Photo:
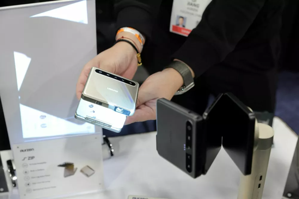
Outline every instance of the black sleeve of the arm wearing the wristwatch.
<path id="1" fill-rule="evenodd" d="M 185 62 L 196 76 L 222 62 L 234 50 L 266 0 L 213 0 L 199 25 L 173 58 Z"/>

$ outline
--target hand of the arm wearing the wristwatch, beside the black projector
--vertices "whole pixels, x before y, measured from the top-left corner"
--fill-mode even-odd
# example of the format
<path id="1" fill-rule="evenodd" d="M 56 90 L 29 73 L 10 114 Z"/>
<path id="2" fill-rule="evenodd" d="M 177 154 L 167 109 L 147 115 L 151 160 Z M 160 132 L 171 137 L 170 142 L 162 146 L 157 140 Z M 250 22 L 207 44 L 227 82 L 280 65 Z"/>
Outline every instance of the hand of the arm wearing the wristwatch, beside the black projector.
<path id="1" fill-rule="evenodd" d="M 171 100 L 183 83 L 181 74 L 173 68 L 149 76 L 139 88 L 135 113 L 127 117 L 125 124 L 155 120 L 157 100 Z"/>

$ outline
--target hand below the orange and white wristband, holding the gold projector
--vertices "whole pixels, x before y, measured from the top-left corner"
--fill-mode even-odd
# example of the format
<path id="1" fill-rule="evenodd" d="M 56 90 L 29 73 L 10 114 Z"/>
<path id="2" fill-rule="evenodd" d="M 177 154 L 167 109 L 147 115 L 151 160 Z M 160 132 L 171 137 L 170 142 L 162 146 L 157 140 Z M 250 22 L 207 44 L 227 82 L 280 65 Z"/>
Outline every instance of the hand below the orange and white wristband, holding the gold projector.
<path id="1" fill-rule="evenodd" d="M 137 70 L 137 62 L 136 51 L 126 42 L 118 42 L 101 52 L 83 67 L 76 86 L 77 99 L 81 97 L 92 67 L 132 79 Z"/>

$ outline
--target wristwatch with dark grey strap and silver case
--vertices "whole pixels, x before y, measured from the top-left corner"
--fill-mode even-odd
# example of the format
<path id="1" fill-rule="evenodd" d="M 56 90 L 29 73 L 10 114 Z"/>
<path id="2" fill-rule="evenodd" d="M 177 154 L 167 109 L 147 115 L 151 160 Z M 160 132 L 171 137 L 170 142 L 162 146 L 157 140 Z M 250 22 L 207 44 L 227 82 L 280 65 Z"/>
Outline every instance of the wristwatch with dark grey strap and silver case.
<path id="1" fill-rule="evenodd" d="M 183 77 L 184 84 L 183 86 L 176 92 L 175 95 L 183 94 L 189 91 L 194 86 L 194 80 L 191 74 L 189 67 L 183 62 L 173 61 L 166 68 L 173 68 L 178 71 Z"/>

